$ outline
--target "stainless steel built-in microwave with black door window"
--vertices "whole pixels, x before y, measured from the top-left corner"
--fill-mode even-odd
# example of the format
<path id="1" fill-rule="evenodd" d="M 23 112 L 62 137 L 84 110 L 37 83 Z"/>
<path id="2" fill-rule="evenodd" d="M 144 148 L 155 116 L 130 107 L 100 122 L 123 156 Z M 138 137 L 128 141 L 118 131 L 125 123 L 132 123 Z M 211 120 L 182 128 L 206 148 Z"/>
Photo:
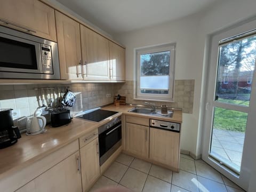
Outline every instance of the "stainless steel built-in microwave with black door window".
<path id="1" fill-rule="evenodd" d="M 0 78 L 60 79 L 57 43 L 0 26 Z"/>

